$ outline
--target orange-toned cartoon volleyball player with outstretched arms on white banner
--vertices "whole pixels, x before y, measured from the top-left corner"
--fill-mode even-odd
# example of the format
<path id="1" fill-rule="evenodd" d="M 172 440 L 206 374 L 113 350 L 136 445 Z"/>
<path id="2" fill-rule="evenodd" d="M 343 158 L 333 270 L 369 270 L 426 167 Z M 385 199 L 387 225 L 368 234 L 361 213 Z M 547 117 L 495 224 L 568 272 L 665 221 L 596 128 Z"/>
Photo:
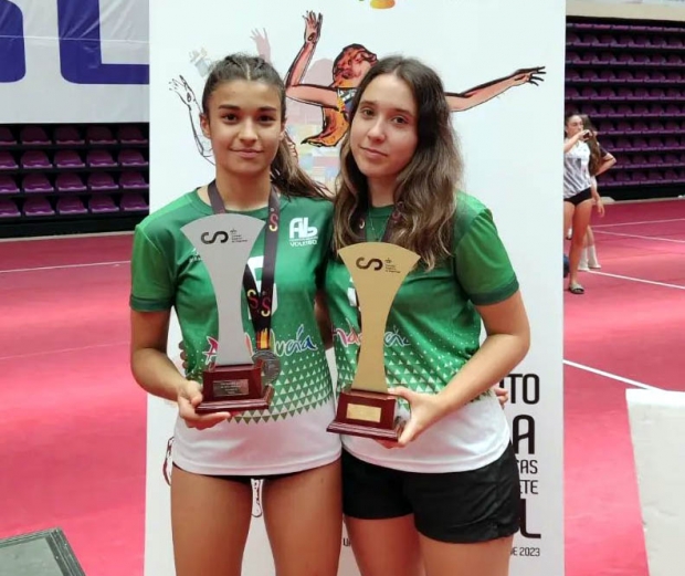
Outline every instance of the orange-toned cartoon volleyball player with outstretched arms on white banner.
<path id="1" fill-rule="evenodd" d="M 380 8 L 380 7 L 379 7 Z M 323 111 L 323 128 L 319 134 L 305 138 L 303 144 L 312 146 L 336 146 L 348 128 L 347 113 L 357 86 L 376 64 L 377 55 L 361 44 L 349 44 L 335 59 L 333 83 L 328 86 L 303 84 L 314 51 L 322 35 L 323 14 L 307 12 L 305 42 L 287 72 L 286 95 L 297 102 L 315 104 Z M 514 86 L 544 81 L 545 66 L 519 69 L 508 76 L 474 86 L 465 92 L 447 92 L 445 97 L 452 112 L 463 112 L 499 96 Z"/>

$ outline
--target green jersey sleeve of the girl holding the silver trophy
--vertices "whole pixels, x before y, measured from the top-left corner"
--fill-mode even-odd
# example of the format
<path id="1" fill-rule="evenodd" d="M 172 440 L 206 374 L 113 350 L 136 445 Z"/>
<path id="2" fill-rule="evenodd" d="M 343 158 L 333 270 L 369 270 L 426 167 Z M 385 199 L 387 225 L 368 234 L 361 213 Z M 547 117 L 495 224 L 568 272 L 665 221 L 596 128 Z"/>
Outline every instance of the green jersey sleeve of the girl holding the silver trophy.
<path id="1" fill-rule="evenodd" d="M 173 305 L 173 281 L 165 254 L 136 228 L 130 260 L 131 291 L 129 304 L 139 312 L 162 312 Z"/>

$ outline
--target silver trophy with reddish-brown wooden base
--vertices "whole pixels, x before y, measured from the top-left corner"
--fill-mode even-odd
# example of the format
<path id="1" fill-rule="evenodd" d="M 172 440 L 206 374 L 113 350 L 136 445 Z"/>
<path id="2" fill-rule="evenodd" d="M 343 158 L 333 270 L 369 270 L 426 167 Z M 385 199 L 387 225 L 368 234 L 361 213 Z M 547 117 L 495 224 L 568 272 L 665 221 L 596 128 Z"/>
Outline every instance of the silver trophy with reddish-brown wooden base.
<path id="1" fill-rule="evenodd" d="M 267 370 L 271 377 L 265 377 L 266 358 L 250 356 L 241 304 L 243 273 L 263 228 L 264 222 L 256 218 L 220 213 L 181 229 L 207 266 L 219 316 L 217 359 L 202 373 L 198 413 L 263 410 L 273 398 L 274 371 Z"/>

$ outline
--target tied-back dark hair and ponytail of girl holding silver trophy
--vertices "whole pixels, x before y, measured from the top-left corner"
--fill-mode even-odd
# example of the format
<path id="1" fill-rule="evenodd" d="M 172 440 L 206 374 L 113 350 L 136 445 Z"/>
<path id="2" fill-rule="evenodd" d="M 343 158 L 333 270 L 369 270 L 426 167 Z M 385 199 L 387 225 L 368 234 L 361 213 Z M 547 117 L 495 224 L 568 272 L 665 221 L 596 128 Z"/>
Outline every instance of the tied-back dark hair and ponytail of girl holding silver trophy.
<path id="1" fill-rule="evenodd" d="M 235 80 L 263 82 L 276 90 L 281 103 L 281 118 L 285 124 L 285 84 L 276 70 L 264 59 L 247 54 L 230 54 L 217 62 L 204 83 L 202 114 L 209 119 L 209 98 L 220 84 Z M 278 144 L 271 163 L 271 179 L 286 196 L 330 199 L 330 192 L 312 179 L 297 164 L 288 136 Z"/>

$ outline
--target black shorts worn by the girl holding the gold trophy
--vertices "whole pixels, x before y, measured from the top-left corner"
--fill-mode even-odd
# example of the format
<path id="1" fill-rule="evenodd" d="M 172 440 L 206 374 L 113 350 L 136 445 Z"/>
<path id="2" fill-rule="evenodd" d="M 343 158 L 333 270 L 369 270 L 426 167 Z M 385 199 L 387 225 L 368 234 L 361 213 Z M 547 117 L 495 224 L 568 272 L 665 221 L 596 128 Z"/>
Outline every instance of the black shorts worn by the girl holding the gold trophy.
<path id="1" fill-rule="evenodd" d="M 360 520 L 413 514 L 421 534 L 454 544 L 510 536 L 518 532 L 520 513 L 514 448 L 477 470 L 447 473 L 378 467 L 342 450 L 342 511 Z"/>

